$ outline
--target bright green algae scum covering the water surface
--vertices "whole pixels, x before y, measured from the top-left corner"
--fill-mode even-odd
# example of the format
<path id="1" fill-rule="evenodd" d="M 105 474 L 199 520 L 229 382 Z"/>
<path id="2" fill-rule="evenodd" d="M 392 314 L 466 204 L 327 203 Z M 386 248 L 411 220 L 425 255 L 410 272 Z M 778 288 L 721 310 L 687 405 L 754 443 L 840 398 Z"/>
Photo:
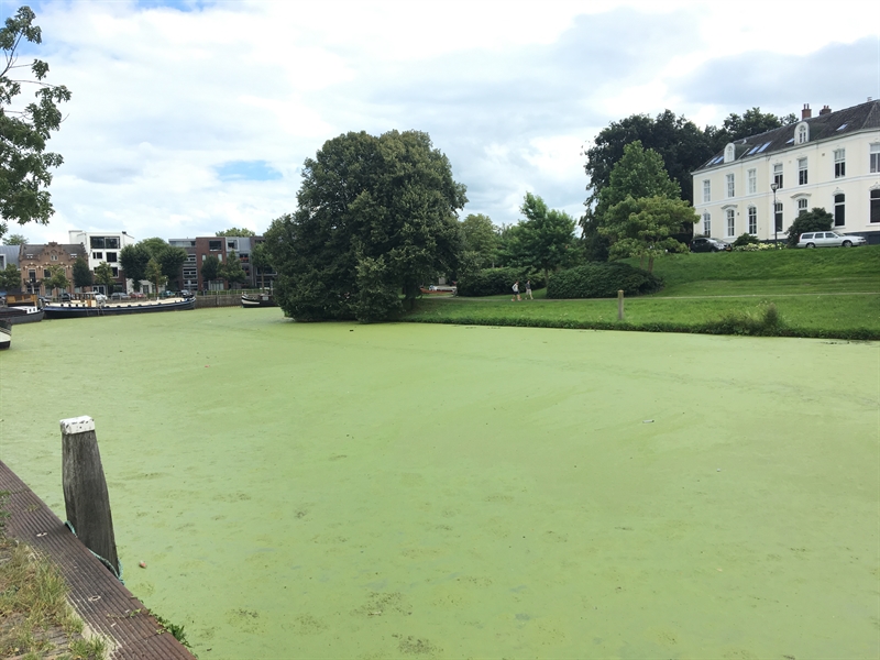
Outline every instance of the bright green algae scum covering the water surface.
<path id="1" fill-rule="evenodd" d="M 878 374 L 877 343 L 44 321 L 0 355 L 0 455 L 63 517 L 58 420 L 95 418 L 127 585 L 201 660 L 877 658 Z"/>

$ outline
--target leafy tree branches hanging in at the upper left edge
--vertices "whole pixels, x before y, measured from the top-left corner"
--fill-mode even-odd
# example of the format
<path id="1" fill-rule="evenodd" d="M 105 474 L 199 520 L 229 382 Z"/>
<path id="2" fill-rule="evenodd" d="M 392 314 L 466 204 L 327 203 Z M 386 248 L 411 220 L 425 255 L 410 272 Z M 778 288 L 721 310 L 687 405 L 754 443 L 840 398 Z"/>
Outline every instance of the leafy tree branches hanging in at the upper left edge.
<path id="1" fill-rule="evenodd" d="M 0 237 L 7 232 L 8 222 L 46 224 L 55 212 L 46 188 L 52 183 L 51 169 L 63 158 L 46 152 L 46 142 L 61 128 L 58 106 L 70 100 L 70 92 L 46 82 L 45 62 L 18 63 L 22 40 L 35 45 L 43 41 L 35 18 L 31 8 L 21 7 L 0 29 Z M 35 90 L 35 98 L 19 105 L 15 98 L 22 86 Z"/>

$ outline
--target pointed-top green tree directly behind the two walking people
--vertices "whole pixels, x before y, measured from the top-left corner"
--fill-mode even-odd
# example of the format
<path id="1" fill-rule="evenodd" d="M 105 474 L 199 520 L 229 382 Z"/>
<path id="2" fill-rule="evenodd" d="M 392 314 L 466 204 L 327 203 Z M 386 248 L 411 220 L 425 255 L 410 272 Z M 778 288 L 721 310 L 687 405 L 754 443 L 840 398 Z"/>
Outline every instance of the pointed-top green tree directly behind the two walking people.
<path id="1" fill-rule="evenodd" d="M 565 265 L 574 253 L 574 218 L 547 207 L 537 195 L 526 193 L 520 212 L 526 219 L 510 234 L 507 250 L 517 265 L 543 271 L 547 282 L 550 271 Z"/>

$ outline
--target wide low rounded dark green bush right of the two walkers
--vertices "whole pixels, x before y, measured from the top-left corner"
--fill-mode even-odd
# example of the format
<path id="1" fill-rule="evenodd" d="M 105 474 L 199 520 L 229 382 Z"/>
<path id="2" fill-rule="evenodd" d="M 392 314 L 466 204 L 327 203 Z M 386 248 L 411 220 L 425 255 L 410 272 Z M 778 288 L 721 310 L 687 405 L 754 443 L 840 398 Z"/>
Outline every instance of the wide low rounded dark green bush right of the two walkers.
<path id="1" fill-rule="evenodd" d="M 629 264 L 593 263 L 550 277 L 548 298 L 614 298 L 623 289 L 627 296 L 651 294 L 663 286 L 662 279 Z"/>

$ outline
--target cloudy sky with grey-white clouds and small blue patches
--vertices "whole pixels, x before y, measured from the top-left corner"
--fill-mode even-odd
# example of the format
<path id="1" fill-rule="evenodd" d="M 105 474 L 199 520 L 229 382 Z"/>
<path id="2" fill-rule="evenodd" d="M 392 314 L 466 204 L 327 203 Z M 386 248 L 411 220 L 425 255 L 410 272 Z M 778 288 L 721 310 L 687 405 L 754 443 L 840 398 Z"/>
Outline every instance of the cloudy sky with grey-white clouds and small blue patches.
<path id="1" fill-rule="evenodd" d="M 19 2 L 0 1 L 3 18 Z M 73 99 L 47 227 L 136 239 L 263 232 L 305 158 L 348 131 L 430 133 L 464 215 L 526 191 L 580 217 L 582 145 L 669 108 L 698 125 L 880 98 L 880 3 L 597 1 L 31 2 Z M 873 7 L 873 9 L 871 9 Z"/>

